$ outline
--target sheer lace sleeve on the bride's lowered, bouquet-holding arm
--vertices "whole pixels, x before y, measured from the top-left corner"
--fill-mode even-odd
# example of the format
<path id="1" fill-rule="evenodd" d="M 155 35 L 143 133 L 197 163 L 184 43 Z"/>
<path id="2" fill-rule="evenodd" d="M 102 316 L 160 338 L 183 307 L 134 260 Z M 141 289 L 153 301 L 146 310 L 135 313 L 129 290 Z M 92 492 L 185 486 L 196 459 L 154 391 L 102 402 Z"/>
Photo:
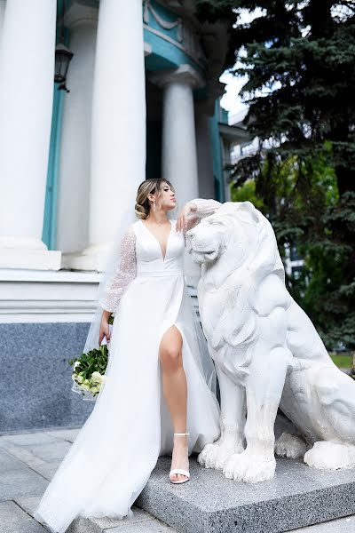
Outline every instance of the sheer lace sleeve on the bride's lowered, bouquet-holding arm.
<path id="1" fill-rule="evenodd" d="M 99 305 L 106 311 L 114 313 L 123 292 L 134 280 L 136 273 L 136 234 L 134 229 L 129 227 L 122 236 L 120 261 L 106 284 L 105 293 L 99 299 Z"/>

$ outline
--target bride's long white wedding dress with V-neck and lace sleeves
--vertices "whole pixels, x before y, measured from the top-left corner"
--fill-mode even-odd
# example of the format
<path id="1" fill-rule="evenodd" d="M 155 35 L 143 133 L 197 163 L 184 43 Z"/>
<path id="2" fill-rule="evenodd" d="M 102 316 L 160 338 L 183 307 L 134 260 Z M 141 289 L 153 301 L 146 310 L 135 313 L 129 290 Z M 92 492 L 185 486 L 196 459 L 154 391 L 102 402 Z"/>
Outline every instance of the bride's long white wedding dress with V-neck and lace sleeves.
<path id="1" fill-rule="evenodd" d="M 198 211 L 187 229 L 220 206 L 214 200 L 193 203 Z M 219 405 L 201 354 L 206 341 L 185 284 L 185 235 L 176 231 L 175 220 L 170 224 L 165 258 L 141 220 L 123 235 L 119 266 L 99 302 L 115 311 L 106 384 L 35 512 L 52 532 L 64 533 L 79 515 L 131 517 L 130 506 L 158 457 L 171 453 L 173 427 L 162 394 L 159 346 L 173 324 L 183 337 L 189 455 L 219 436 Z"/>

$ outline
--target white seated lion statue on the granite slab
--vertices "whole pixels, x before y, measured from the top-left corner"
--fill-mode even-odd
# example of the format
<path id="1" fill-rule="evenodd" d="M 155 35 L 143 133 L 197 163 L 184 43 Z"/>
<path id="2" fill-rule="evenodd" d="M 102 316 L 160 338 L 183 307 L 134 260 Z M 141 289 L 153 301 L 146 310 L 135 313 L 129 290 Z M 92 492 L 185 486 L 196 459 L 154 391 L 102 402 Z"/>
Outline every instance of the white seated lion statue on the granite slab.
<path id="1" fill-rule="evenodd" d="M 274 451 L 316 468 L 355 466 L 355 382 L 288 294 L 269 221 L 250 202 L 227 202 L 186 238 L 221 393 L 221 436 L 199 463 L 247 482 L 272 479 Z M 279 406 L 302 437 L 275 443 Z"/>

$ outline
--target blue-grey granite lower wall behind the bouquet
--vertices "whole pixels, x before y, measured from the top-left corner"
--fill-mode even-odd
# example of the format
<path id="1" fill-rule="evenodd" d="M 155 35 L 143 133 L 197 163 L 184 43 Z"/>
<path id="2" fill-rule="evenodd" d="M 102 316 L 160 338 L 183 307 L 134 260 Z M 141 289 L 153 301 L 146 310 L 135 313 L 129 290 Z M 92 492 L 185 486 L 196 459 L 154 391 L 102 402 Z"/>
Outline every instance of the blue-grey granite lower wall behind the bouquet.
<path id="1" fill-rule="evenodd" d="M 0 434 L 83 425 L 94 402 L 71 390 L 68 360 L 82 353 L 89 325 L 0 324 Z"/>

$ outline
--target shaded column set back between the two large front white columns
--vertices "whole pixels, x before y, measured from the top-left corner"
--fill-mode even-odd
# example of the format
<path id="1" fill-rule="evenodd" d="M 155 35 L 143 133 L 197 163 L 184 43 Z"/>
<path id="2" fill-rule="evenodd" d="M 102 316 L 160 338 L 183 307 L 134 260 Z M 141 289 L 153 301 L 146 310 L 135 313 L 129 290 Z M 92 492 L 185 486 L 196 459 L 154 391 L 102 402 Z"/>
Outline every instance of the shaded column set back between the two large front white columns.
<path id="1" fill-rule="evenodd" d="M 65 15 L 74 57 L 67 75 L 60 145 L 57 246 L 81 251 L 89 237 L 92 84 L 98 9 L 71 4 Z M 63 254 L 62 266 L 66 266 Z"/>

